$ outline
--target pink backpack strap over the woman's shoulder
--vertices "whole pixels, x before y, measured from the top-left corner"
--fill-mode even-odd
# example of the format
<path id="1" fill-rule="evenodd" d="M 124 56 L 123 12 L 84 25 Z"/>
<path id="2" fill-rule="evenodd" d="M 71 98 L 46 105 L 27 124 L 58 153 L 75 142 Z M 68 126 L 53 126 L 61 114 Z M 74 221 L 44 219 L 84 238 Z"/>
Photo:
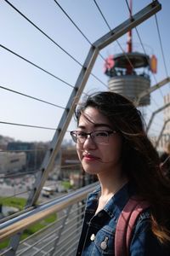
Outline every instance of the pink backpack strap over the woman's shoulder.
<path id="1" fill-rule="evenodd" d="M 133 226 L 139 214 L 149 207 L 147 201 L 130 198 L 123 208 L 116 224 L 115 255 L 126 256 L 130 247 Z"/>

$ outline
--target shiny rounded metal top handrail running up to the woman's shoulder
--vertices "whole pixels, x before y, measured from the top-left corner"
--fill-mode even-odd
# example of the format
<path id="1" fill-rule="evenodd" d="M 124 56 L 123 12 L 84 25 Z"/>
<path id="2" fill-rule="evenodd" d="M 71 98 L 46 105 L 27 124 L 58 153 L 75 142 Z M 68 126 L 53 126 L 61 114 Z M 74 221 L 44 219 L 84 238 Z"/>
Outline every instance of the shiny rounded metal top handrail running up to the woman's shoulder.
<path id="1" fill-rule="evenodd" d="M 82 201 L 86 198 L 88 193 L 95 189 L 97 184 L 98 183 L 92 183 L 86 187 L 77 189 L 69 195 L 64 195 L 63 197 L 56 198 L 53 201 L 34 207 L 31 211 L 0 224 L 0 242 L 25 230 L 31 224 L 35 224 L 43 218 L 48 217 L 50 214 L 59 212 L 60 210 L 65 209 L 65 207 L 69 207 L 78 201 Z"/>

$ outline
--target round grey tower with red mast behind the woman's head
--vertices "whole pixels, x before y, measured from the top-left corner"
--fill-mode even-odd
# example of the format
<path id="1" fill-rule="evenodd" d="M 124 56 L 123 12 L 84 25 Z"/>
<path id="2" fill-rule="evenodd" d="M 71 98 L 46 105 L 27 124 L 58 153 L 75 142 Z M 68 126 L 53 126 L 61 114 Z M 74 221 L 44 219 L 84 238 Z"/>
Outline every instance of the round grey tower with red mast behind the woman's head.
<path id="1" fill-rule="evenodd" d="M 132 0 L 130 1 L 132 17 Z M 156 57 L 133 51 L 132 31 L 127 34 L 127 52 L 110 55 L 105 60 L 105 74 L 110 78 L 109 90 L 134 101 L 141 92 L 150 88 L 150 71 L 156 73 Z M 139 106 L 150 104 L 150 95 L 144 96 Z"/>

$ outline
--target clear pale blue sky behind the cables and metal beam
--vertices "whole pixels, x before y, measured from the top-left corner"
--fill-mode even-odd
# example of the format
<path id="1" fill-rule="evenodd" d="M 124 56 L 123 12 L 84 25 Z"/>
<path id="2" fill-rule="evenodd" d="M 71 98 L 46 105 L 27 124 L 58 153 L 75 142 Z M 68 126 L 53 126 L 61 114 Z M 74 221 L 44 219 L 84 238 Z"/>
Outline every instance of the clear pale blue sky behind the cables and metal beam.
<path id="1" fill-rule="evenodd" d="M 88 40 L 94 43 L 105 33 L 109 32 L 109 28 L 99 14 L 99 10 L 96 8 L 93 0 L 58 1 L 88 40 L 73 26 L 54 0 L 9 0 L 8 2 L 12 3 L 16 9 L 20 10 L 23 15 L 26 15 L 29 20 L 45 32 L 48 37 L 52 38 L 56 44 L 59 44 L 82 64 L 90 49 Z M 111 28 L 127 20 L 129 14 L 125 0 L 98 0 L 96 2 L 99 4 L 99 8 L 103 15 L 105 15 L 105 19 Z M 151 3 L 149 0 L 133 0 L 133 14 L 149 3 Z M 152 16 L 137 27 L 147 54 L 155 54 L 158 61 L 158 72 L 155 78 L 152 75 L 150 76 L 151 85 L 167 77 L 161 55 L 156 18 L 161 35 L 167 72 L 169 72 L 170 67 L 170 37 L 168 35 L 170 2 L 161 0 L 160 3 L 162 4 L 162 9 L 156 14 L 156 17 Z M 1 45 L 74 86 L 81 71 L 81 66 L 3 0 L 0 2 L 0 34 Z M 119 38 L 118 41 L 122 44 L 122 48 L 125 49 L 127 35 Z M 137 50 L 142 51 L 135 30 L 133 30 L 133 45 Z M 103 49 L 101 55 L 106 58 L 108 55 L 121 52 L 122 49 L 115 42 Z M 93 73 L 103 83 L 107 84 L 108 77 L 103 73 L 103 65 L 103 59 L 98 57 Z M 43 101 L 52 102 L 61 108 L 37 102 L 31 98 L 0 88 L 0 121 L 56 128 L 63 113 L 62 108 L 65 108 L 72 90 L 71 86 L 62 83 L 59 79 L 55 79 L 48 73 L 33 67 L 30 63 L 23 61 L 1 46 L 0 86 L 19 91 L 28 96 L 37 97 Z M 147 119 L 150 118 L 150 114 L 153 111 L 163 105 L 162 96 L 169 92 L 169 88 L 169 84 L 167 84 L 161 90 L 156 90 L 156 92 L 152 93 L 151 104 L 146 109 Z M 85 91 L 90 92 L 94 90 L 106 90 L 106 88 L 104 84 L 99 83 L 93 76 L 90 76 Z M 161 119 L 162 113 L 156 119 L 153 132 L 156 133 L 161 129 Z M 72 121 L 68 130 L 74 128 L 74 121 Z M 0 135 L 13 137 L 15 140 L 46 142 L 53 138 L 54 131 L 0 123 Z M 68 134 L 66 134 L 66 138 L 69 138 Z"/>

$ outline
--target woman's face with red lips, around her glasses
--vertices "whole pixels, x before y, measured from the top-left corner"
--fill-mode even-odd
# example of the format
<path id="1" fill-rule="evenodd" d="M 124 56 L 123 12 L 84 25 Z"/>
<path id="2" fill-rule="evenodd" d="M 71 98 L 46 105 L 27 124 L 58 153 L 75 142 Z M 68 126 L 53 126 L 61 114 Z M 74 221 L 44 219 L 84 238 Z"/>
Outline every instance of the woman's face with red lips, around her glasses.
<path id="1" fill-rule="evenodd" d="M 96 108 L 88 107 L 81 114 L 78 131 L 112 131 L 114 124 Z M 102 134 L 102 133 L 101 133 Z M 85 172 L 99 174 L 101 172 L 121 171 L 122 137 L 112 133 L 108 143 L 96 143 L 90 136 L 84 143 L 77 143 L 77 154 Z"/>

